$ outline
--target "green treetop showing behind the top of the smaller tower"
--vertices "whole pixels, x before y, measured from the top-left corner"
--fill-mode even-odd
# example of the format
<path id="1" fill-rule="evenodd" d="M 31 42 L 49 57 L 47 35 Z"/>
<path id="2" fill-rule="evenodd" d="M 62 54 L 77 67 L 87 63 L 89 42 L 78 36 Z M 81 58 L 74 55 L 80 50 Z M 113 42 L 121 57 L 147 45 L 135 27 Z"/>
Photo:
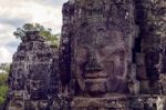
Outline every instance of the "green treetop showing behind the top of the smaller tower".
<path id="1" fill-rule="evenodd" d="M 22 28 L 18 28 L 17 31 L 13 32 L 15 38 L 22 38 L 25 36 L 27 31 L 40 31 L 40 36 L 43 37 L 50 46 L 55 48 L 59 47 L 59 38 L 60 34 L 53 34 L 50 28 L 44 28 L 39 23 L 25 23 Z"/>

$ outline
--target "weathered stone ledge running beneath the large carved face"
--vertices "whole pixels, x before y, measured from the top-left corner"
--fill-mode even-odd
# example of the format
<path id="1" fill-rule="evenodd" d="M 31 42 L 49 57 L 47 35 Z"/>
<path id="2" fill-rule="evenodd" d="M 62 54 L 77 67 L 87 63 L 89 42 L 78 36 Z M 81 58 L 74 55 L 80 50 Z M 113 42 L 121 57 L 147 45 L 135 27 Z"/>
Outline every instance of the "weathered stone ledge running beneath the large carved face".
<path id="1" fill-rule="evenodd" d="M 72 110 L 165 110 L 166 96 L 123 96 L 107 94 L 105 98 L 83 98 L 75 97 L 71 102 Z M 162 109 L 159 109 L 162 108 Z"/>

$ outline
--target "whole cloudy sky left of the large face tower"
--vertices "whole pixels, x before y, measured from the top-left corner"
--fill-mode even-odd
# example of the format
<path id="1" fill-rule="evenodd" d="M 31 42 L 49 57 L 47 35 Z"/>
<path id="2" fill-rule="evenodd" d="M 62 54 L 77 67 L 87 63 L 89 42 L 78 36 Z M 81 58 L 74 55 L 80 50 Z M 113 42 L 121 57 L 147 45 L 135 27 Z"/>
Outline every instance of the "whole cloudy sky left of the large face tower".
<path id="1" fill-rule="evenodd" d="M 37 22 L 60 33 L 62 4 L 68 0 L 0 0 L 0 63 L 11 62 L 20 43 L 13 31 Z"/>

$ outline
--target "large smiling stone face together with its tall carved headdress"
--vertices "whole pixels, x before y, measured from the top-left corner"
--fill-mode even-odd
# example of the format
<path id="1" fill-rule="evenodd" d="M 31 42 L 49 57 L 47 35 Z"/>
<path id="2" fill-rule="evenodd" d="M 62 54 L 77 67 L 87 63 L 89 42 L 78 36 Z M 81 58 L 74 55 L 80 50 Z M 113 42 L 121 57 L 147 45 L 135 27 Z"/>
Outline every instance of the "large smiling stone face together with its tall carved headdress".
<path id="1" fill-rule="evenodd" d="M 126 92 L 137 33 L 131 0 L 76 0 L 63 7 L 62 42 L 70 39 L 72 80 L 81 91 Z M 69 73 L 69 72 L 68 72 Z M 114 84 L 112 84 L 114 83 Z M 75 84 L 76 86 L 76 84 Z M 72 86 L 73 87 L 73 86 Z M 79 91 L 76 91 L 79 92 Z"/>

